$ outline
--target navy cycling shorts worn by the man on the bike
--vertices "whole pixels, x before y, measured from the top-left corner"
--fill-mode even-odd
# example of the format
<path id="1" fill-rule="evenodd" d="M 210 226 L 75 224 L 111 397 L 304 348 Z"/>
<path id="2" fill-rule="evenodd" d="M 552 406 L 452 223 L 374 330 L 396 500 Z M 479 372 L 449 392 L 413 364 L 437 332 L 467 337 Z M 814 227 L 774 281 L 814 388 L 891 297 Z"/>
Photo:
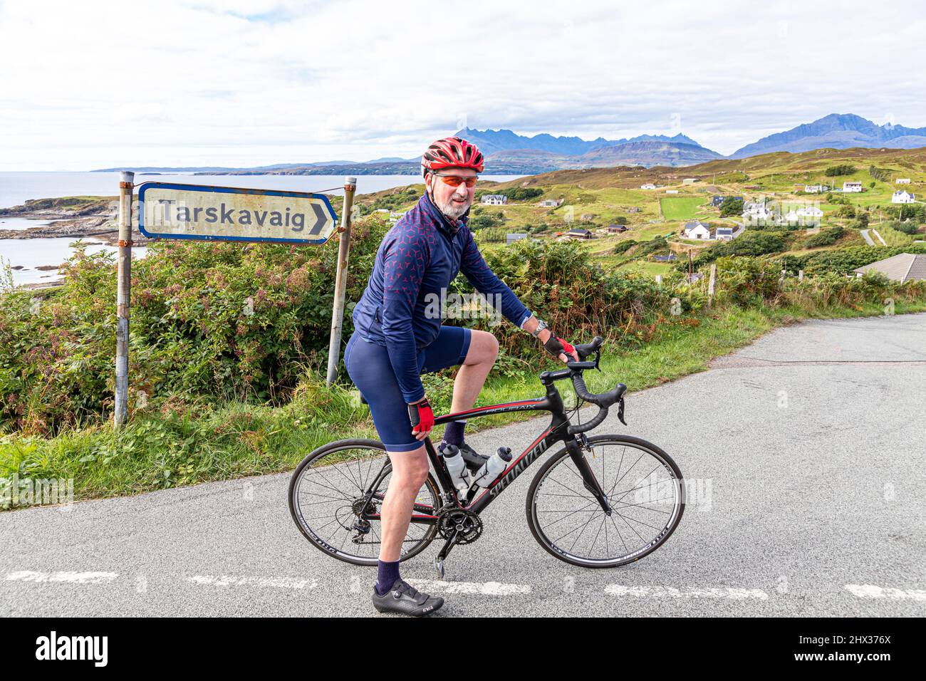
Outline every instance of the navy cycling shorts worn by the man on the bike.
<path id="1" fill-rule="evenodd" d="M 462 364 L 472 332 L 459 326 L 442 326 L 434 342 L 418 354 L 419 373 L 438 372 Z M 412 451 L 421 442 L 411 434 L 408 406 L 395 380 L 389 351 L 354 332 L 344 349 L 347 375 L 369 402 L 376 432 L 389 451 Z"/>

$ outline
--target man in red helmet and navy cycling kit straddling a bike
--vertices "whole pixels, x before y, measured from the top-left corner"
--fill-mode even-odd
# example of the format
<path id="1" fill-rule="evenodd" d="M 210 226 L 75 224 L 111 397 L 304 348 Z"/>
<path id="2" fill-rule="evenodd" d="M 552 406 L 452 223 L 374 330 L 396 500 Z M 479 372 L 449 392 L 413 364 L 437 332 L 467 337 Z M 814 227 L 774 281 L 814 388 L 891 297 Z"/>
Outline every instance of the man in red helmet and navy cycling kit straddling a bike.
<path id="1" fill-rule="evenodd" d="M 369 403 L 393 468 L 382 502 L 382 545 L 373 589 L 373 605 L 380 612 L 420 616 L 444 604 L 444 599 L 408 585 L 399 575 L 399 559 L 412 505 L 428 476 L 422 440 L 434 424 L 420 374 L 460 365 L 451 411 L 468 410 L 498 354 L 493 334 L 442 325 L 447 289 L 457 273 L 462 271 L 482 294 L 500 296 L 507 320 L 538 338 L 553 356 L 564 362 L 578 359 L 574 348 L 552 334 L 494 275 L 473 242 L 467 220 L 483 165 L 479 148 L 459 137 L 428 147 L 421 158 L 426 192 L 383 237 L 354 309 L 354 334 L 344 349 L 347 373 Z M 440 449 L 457 446 L 475 469 L 486 458 L 466 444 L 465 425 L 448 423 Z"/>

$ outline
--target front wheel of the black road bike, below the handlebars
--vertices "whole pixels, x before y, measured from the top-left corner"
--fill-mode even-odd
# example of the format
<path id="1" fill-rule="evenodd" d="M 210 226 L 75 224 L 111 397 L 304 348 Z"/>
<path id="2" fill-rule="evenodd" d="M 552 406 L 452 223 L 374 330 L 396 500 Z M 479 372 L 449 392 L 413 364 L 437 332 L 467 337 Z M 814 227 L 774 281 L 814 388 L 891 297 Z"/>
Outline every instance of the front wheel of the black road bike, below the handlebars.
<path id="1" fill-rule="evenodd" d="M 527 494 L 534 538 L 572 565 L 617 567 L 639 561 L 671 536 L 682 520 L 682 471 L 669 455 L 638 437 L 596 435 L 583 451 L 611 512 L 589 492 L 566 448 L 537 472 Z"/>

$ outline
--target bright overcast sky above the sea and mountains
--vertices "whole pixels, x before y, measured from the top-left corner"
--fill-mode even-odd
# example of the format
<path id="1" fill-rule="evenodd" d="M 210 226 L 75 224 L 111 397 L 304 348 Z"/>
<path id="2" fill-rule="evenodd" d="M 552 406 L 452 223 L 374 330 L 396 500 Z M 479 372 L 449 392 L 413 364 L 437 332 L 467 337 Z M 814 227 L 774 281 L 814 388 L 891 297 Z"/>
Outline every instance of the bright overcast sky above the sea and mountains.
<path id="1" fill-rule="evenodd" d="M 411 158 L 469 125 L 926 126 L 914 2 L 0 0 L 0 170 Z"/>

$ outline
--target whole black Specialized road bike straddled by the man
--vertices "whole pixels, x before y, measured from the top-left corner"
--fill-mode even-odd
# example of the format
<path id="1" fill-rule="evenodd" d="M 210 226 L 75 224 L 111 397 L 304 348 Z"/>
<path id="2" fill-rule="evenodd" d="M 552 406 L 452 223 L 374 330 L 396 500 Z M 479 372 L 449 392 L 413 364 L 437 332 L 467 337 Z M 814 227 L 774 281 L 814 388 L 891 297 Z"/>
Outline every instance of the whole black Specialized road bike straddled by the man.
<path id="1" fill-rule="evenodd" d="M 511 460 L 491 486 L 473 485 L 465 496 L 457 494 L 443 458 L 425 438 L 432 471 L 416 498 L 402 561 L 418 555 L 440 535 L 444 547 L 434 565 L 443 577 L 450 550 L 482 535 L 482 511 L 557 443 L 563 447 L 546 460 L 527 493 L 527 522 L 550 554 L 582 567 L 617 567 L 639 561 L 671 536 L 685 508 L 684 481 L 675 461 L 639 437 L 585 435 L 605 420 L 615 404 L 620 422 L 627 424 L 625 385 L 599 395 L 590 394 L 585 386 L 582 372 L 598 368 L 602 343 L 596 336 L 592 343 L 575 346 L 580 361 L 541 373 L 545 397 L 435 419 L 440 424 L 507 411 L 549 411 L 553 416 L 544 432 Z M 586 359 L 593 354 L 594 359 Z M 591 421 L 569 421 L 556 385 L 566 379 L 580 398 L 572 413 L 578 413 L 582 400 L 598 406 Z M 299 463 L 290 481 L 293 520 L 314 546 L 333 558 L 376 565 L 380 510 L 391 473 L 385 448 L 376 440 L 339 440 L 320 447 Z"/>

